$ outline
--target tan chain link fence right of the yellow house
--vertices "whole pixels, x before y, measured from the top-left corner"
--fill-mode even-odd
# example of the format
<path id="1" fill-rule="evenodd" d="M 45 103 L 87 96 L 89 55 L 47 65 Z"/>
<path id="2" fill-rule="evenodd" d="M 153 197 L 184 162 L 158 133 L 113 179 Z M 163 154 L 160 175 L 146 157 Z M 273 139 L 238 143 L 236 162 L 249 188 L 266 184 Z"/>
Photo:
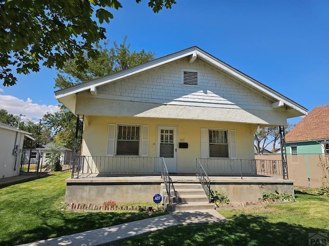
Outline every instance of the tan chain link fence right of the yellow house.
<path id="1" fill-rule="evenodd" d="M 281 155 L 256 155 L 255 159 L 281 160 Z M 288 177 L 295 186 L 320 188 L 323 186 L 324 172 L 320 162 L 324 154 L 287 155 Z"/>

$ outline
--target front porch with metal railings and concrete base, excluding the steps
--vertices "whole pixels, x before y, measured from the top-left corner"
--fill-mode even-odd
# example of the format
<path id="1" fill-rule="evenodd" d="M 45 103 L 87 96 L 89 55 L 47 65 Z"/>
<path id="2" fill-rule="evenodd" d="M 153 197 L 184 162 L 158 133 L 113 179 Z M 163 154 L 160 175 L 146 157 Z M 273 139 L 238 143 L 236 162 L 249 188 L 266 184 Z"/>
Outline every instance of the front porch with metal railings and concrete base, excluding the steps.
<path id="1" fill-rule="evenodd" d="M 293 180 L 283 179 L 281 160 L 196 158 L 194 173 L 169 173 L 162 157 L 80 156 L 66 180 L 67 203 L 102 204 L 152 201 L 161 194 L 171 203 L 175 187 L 196 184 L 209 198 L 224 191 L 231 201 L 257 201 L 264 192 L 291 193 Z"/>

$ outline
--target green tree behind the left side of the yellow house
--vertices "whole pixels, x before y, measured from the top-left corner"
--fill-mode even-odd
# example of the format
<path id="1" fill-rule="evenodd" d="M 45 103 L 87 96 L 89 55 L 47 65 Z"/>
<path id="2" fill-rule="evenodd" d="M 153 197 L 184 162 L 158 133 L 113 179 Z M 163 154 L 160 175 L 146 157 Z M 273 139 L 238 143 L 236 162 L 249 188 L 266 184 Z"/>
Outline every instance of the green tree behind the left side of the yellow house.
<path id="1" fill-rule="evenodd" d="M 120 45 L 114 42 L 113 47 L 110 49 L 106 48 L 108 43 L 105 43 L 104 46 L 98 45 L 98 55 L 96 57 L 88 58 L 85 54 L 88 66 L 83 70 L 79 70 L 73 60 L 68 60 L 63 69 L 60 69 L 57 74 L 55 88 L 64 89 L 154 59 L 155 54 L 150 51 L 131 52 L 130 44 L 126 45 L 126 39 L 125 36 Z M 44 115 L 43 121 L 56 134 L 54 141 L 62 141 L 66 148 L 74 149 L 77 122 L 74 114 L 61 106 L 60 111 L 57 113 Z M 80 124 L 78 132 L 81 132 L 81 129 L 82 124 Z M 78 136 L 78 139 L 80 138 L 81 136 Z M 77 149 L 80 149 L 79 146 L 77 146 Z"/>

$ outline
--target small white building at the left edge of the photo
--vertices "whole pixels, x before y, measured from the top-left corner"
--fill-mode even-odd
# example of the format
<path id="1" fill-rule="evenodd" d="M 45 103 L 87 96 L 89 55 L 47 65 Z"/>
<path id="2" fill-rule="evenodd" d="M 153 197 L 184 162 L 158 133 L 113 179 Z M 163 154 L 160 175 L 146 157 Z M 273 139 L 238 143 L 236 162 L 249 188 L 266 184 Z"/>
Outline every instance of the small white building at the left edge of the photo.
<path id="1" fill-rule="evenodd" d="M 0 178 L 20 175 L 24 139 L 34 140 L 28 134 L 0 122 Z"/>

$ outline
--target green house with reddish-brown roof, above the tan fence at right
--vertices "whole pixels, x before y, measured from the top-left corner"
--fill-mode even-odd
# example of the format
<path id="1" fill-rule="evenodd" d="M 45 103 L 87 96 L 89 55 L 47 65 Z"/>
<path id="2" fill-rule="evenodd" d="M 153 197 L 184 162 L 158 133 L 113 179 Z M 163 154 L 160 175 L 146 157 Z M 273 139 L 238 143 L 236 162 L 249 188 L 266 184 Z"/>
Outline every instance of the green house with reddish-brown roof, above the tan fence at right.
<path id="1" fill-rule="evenodd" d="M 314 108 L 286 134 L 287 154 L 329 152 L 329 104 Z M 325 145 L 324 145 L 325 144 Z"/>

